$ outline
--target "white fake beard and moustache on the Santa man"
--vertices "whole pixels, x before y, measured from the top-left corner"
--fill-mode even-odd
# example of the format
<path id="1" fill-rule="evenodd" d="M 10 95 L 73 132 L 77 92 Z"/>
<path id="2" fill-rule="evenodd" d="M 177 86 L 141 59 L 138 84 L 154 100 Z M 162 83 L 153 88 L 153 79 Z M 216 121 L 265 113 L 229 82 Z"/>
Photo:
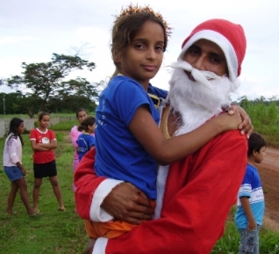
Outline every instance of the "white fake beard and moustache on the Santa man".
<path id="1" fill-rule="evenodd" d="M 181 115 L 179 128 L 174 133 L 181 135 L 220 114 L 222 105 L 229 103 L 229 95 L 235 89 L 227 76 L 194 69 L 186 61 L 177 61 L 172 68 L 168 98 L 174 112 Z M 190 80 L 184 70 L 198 81 Z"/>

